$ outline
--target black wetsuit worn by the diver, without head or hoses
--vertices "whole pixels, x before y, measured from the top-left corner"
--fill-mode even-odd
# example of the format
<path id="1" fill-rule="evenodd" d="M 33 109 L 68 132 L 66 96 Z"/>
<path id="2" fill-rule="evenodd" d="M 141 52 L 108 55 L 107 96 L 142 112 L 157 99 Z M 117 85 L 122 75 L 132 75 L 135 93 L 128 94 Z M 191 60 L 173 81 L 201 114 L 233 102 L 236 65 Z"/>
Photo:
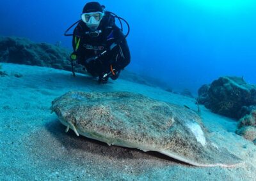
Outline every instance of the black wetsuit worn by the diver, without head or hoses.
<path id="1" fill-rule="evenodd" d="M 92 76 L 102 77 L 104 74 L 113 72 L 120 73 L 131 61 L 131 55 L 127 41 L 122 31 L 115 25 L 113 17 L 104 16 L 98 27 L 99 36 L 90 35 L 90 29 L 84 22 L 79 22 L 74 29 L 72 45 L 77 62 L 86 67 Z M 78 44 L 78 45 L 77 45 Z M 86 62 L 106 50 L 99 59 Z M 112 75 L 111 75 L 112 76 Z M 114 77 L 114 76 L 113 76 Z M 117 78 L 113 78 L 114 80 Z"/>

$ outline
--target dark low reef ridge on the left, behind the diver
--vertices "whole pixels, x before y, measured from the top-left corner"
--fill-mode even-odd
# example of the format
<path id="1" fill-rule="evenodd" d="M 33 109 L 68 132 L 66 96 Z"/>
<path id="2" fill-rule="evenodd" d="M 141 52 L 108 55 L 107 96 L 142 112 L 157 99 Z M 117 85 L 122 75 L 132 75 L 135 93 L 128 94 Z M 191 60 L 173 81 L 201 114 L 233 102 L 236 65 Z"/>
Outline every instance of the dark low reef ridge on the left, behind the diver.
<path id="1" fill-rule="evenodd" d="M 0 62 L 45 66 L 70 70 L 70 52 L 47 43 L 26 38 L 0 37 Z"/>

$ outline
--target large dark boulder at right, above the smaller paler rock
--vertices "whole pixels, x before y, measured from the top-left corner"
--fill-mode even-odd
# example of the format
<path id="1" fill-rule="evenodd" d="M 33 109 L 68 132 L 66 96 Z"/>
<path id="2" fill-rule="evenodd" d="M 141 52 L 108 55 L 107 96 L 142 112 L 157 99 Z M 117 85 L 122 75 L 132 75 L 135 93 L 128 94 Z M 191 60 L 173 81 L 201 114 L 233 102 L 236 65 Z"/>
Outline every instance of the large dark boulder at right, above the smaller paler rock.
<path id="1" fill-rule="evenodd" d="M 223 76 L 198 90 L 199 103 L 212 112 L 239 119 L 243 106 L 256 105 L 256 86 L 243 78 Z"/>

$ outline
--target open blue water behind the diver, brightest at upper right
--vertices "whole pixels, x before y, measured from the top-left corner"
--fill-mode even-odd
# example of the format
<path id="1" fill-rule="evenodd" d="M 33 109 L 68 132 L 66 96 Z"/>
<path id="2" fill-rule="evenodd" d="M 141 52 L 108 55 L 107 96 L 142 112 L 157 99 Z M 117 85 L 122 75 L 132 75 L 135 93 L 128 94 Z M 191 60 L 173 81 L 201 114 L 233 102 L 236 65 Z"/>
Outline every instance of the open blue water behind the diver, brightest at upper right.
<path id="1" fill-rule="evenodd" d="M 64 31 L 88 1 L 1 1 L 0 35 L 71 48 Z M 224 75 L 256 83 L 256 1 L 99 1 L 131 25 L 127 69 L 195 92 Z M 161 2 L 161 3 L 160 3 Z"/>

